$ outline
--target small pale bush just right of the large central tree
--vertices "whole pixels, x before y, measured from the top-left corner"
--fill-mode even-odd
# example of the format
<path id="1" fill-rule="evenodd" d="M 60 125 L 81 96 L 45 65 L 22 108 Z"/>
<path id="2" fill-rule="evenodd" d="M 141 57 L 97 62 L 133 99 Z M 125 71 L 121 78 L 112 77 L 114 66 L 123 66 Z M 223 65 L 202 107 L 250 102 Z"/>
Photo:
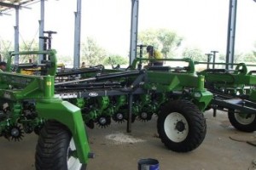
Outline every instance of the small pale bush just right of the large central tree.
<path id="1" fill-rule="evenodd" d="M 207 56 L 202 53 L 200 48 L 184 48 L 183 57 L 194 61 L 207 61 Z"/>

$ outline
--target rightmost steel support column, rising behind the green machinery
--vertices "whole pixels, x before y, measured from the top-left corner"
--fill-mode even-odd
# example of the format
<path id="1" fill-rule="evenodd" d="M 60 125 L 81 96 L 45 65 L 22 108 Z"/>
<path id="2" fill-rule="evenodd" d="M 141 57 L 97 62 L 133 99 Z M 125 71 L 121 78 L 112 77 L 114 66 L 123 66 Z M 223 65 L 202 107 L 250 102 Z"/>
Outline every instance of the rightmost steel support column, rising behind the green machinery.
<path id="1" fill-rule="evenodd" d="M 234 63 L 235 37 L 236 37 L 236 8 L 237 0 L 230 0 L 229 26 L 226 49 L 226 63 Z M 226 69 L 233 68 L 233 65 L 226 65 Z"/>

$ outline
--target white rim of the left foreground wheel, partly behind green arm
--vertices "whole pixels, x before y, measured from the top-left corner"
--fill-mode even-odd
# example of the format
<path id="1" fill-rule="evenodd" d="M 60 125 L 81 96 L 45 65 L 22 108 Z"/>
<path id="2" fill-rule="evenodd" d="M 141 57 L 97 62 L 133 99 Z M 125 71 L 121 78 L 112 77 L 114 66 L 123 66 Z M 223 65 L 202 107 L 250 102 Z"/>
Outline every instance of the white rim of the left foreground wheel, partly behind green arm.
<path id="1" fill-rule="evenodd" d="M 67 169 L 68 170 L 80 170 L 82 164 L 79 158 L 72 156 L 72 152 L 76 150 L 73 138 L 70 140 L 69 147 L 67 148 Z"/>

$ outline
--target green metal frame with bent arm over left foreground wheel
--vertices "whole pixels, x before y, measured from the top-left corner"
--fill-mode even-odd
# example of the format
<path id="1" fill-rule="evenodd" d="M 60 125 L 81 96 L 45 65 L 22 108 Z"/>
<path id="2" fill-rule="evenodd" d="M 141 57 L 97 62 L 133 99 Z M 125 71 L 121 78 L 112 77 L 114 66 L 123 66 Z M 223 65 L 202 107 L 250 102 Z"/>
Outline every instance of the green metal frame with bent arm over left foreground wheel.
<path id="1" fill-rule="evenodd" d="M 54 50 L 11 53 L 10 55 L 15 56 L 15 54 L 49 54 L 51 62 L 47 73 L 55 75 L 56 59 Z M 73 134 L 79 161 L 87 163 L 90 147 L 79 107 L 55 98 L 54 76 L 30 76 L 13 73 L 11 72 L 11 66 L 11 59 L 9 59 L 7 67 L 9 72 L 0 72 L 0 96 L 16 103 L 29 99 L 35 101 L 38 116 L 46 120 L 54 119 L 68 127 Z"/>

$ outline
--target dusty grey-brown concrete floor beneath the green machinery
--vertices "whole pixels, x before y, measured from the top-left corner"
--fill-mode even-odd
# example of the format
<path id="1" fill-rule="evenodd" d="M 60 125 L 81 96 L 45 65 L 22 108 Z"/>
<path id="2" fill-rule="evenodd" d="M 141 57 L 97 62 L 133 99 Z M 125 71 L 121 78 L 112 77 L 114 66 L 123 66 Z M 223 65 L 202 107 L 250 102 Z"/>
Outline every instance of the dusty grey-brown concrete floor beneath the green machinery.
<path id="1" fill-rule="evenodd" d="M 88 170 L 135 170 L 137 161 L 154 158 L 160 170 L 253 170 L 256 133 L 241 133 L 230 126 L 226 113 L 205 113 L 207 136 L 203 143 L 189 153 L 166 150 L 157 138 L 156 117 L 150 122 L 132 124 L 132 132 L 125 133 L 126 123 L 112 123 L 107 128 L 88 129 L 90 148 L 96 154 Z M 37 136 L 28 134 L 21 142 L 0 139 L 0 169 L 32 170 Z M 114 139 L 118 139 L 115 141 Z M 120 139 L 125 139 L 120 141 Z M 126 143 L 125 141 L 129 141 Z"/>

